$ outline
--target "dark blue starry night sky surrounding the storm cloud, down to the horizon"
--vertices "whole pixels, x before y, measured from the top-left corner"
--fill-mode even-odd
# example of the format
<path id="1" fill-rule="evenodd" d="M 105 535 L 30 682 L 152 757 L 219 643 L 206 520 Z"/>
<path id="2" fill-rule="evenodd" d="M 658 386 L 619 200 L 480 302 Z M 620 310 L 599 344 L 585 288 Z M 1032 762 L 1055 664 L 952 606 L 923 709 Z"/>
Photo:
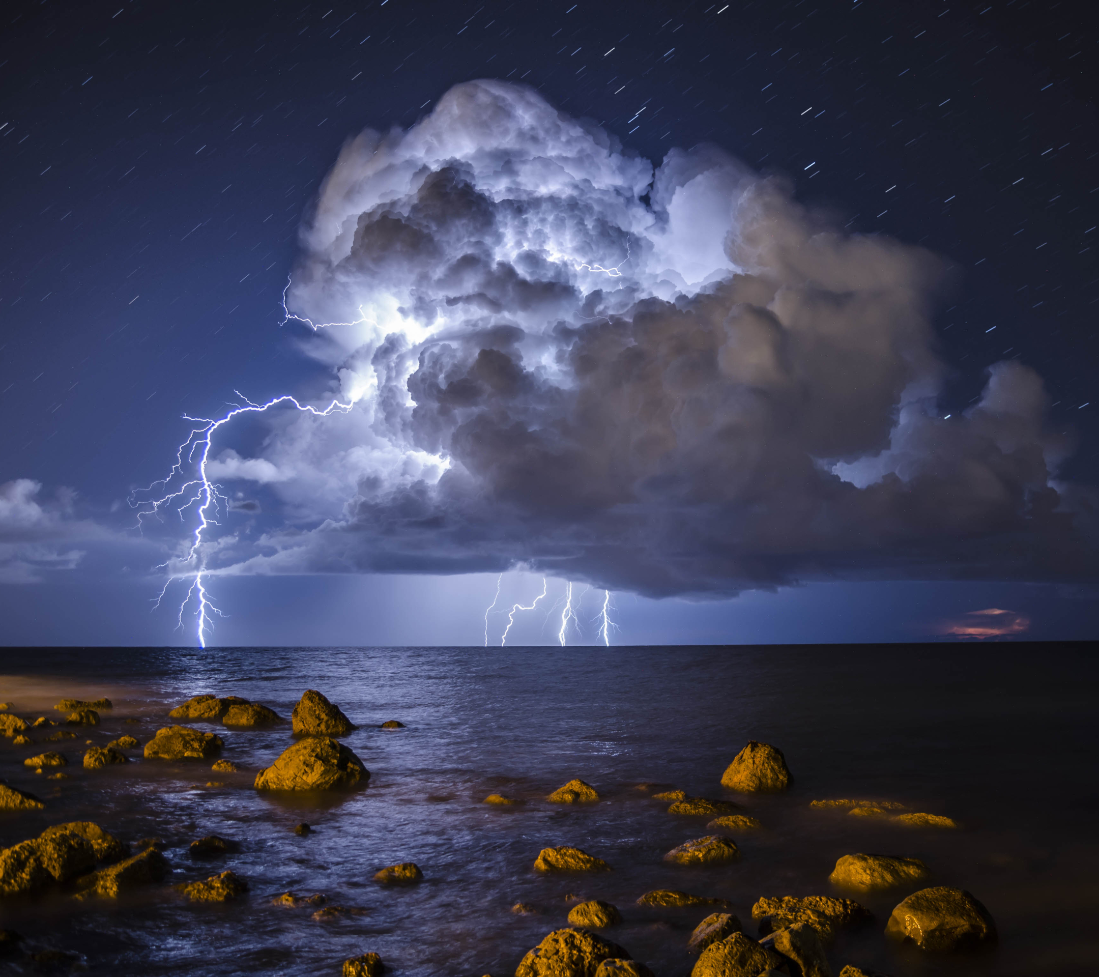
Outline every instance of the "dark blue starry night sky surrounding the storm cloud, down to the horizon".
<path id="1" fill-rule="evenodd" d="M 713 144 L 813 220 L 937 255 L 937 417 L 977 402 L 992 364 L 1033 368 L 1047 428 L 1070 447 L 1054 482 L 1083 500 L 1066 539 L 1088 548 L 1099 137 L 1085 13 L 1015 0 L 8 4 L 2 641 L 193 642 L 189 612 L 175 630 L 175 591 L 151 610 L 156 565 L 190 523 L 173 513 L 142 535 L 130 493 L 170 468 L 193 426 L 185 412 L 220 417 L 237 390 L 337 396 L 311 331 L 284 322 L 302 223 L 349 138 L 408 129 L 481 78 L 530 86 L 654 164 Z M 249 422 L 226 445 L 251 457 L 269 436 Z M 242 519 L 262 512 L 253 532 L 312 528 L 292 491 L 265 491 L 241 506 Z M 961 533 L 951 553 L 968 546 Z M 697 600 L 633 587 L 607 557 L 579 574 L 592 589 L 573 641 L 598 640 L 599 584 L 614 595 L 611 643 L 931 640 L 990 608 L 1010 612 L 992 628 L 1010 636 L 1097 636 L 1094 563 L 1007 560 L 1001 573 L 998 558 L 957 574 L 907 557 L 801 564 Z M 440 560 L 356 566 L 215 578 L 227 617 L 210 642 L 480 644 L 503 569 L 488 557 L 456 562 L 456 575 Z M 543 573 L 504 574 L 501 601 L 530 602 Z M 543 610 L 563 581 L 551 575 L 509 644 L 556 642 L 560 607 Z"/>

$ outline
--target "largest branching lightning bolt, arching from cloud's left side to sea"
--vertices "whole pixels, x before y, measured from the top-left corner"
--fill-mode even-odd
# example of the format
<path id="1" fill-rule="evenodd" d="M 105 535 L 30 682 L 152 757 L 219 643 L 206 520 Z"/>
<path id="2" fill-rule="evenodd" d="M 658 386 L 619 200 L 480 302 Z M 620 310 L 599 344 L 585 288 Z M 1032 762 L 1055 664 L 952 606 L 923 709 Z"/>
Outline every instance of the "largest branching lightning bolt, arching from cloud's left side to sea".
<path id="1" fill-rule="evenodd" d="M 210 418 L 192 418 L 189 414 L 184 414 L 185 420 L 197 421 L 204 424 L 204 426 L 193 429 L 191 433 L 187 435 L 187 440 L 179 445 L 179 451 L 176 452 L 176 464 L 171 466 L 171 470 L 168 473 L 168 476 L 166 478 L 157 479 L 147 489 L 144 489 L 144 491 L 151 492 L 153 490 L 153 486 L 159 485 L 163 486 L 167 493 L 158 499 L 131 500 L 131 506 L 138 510 L 138 523 L 141 523 L 142 517 L 159 515 L 163 509 L 177 501 L 180 504 L 176 508 L 176 511 L 179 513 L 180 520 L 182 520 L 184 510 L 197 504 L 197 509 L 195 511 L 198 517 L 198 523 L 195 526 L 195 534 L 192 536 L 191 545 L 187 551 L 187 555 L 180 562 L 181 566 L 190 566 L 192 569 L 188 573 L 176 573 L 169 568 L 168 579 L 153 606 L 154 608 L 160 606 L 160 601 L 164 599 L 169 585 L 174 580 L 180 577 L 190 578 L 191 586 L 187 589 L 184 601 L 179 606 L 179 626 L 182 626 L 184 611 L 193 598 L 198 606 L 196 610 L 198 641 L 199 646 L 203 648 L 206 647 L 207 631 L 212 628 L 209 620 L 210 617 L 212 614 L 224 617 L 224 614 L 222 614 L 222 612 L 211 602 L 210 595 L 207 592 L 202 582 L 202 578 L 207 574 L 206 554 L 202 551 L 202 534 L 211 525 L 219 524 L 217 517 L 220 515 L 221 507 L 229 501 L 226 496 L 220 491 L 221 487 L 215 482 L 210 481 L 210 478 L 207 475 L 207 463 L 210 459 L 210 446 L 213 433 L 240 414 L 262 413 L 268 408 L 277 407 L 281 403 L 292 403 L 298 410 L 314 414 L 318 418 L 328 417 L 333 412 L 347 413 L 347 411 L 352 408 L 349 403 L 341 403 L 338 400 L 333 400 L 332 403 L 324 408 L 324 410 L 318 410 L 311 404 L 299 403 L 296 398 L 288 393 L 282 397 L 276 397 L 268 400 L 266 403 L 254 403 L 240 393 L 240 391 L 236 391 L 236 395 L 244 400 L 244 404 L 234 407 L 224 417 L 218 418 L 217 420 Z M 186 476 L 184 475 L 184 468 L 187 465 L 192 464 L 196 465 L 196 477 L 186 479 L 178 489 L 168 491 L 173 479 L 177 476 L 180 479 L 185 479 Z M 168 563 L 160 564 L 160 566 L 168 567 L 169 563 L 170 560 Z"/>

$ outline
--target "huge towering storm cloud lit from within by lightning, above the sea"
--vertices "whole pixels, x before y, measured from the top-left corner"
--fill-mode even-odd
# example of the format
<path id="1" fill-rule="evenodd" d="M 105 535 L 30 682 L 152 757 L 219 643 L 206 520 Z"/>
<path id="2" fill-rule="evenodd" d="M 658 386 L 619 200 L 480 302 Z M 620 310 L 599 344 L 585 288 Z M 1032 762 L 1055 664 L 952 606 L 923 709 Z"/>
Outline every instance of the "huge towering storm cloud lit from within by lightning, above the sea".
<path id="1" fill-rule="evenodd" d="M 223 571 L 1094 573 L 1040 377 L 996 364 L 936 408 L 941 262 L 717 148 L 654 169 L 530 89 L 458 85 L 344 147 L 302 243 L 287 307 L 355 408 L 281 422 L 263 471 L 325 518 Z"/>

